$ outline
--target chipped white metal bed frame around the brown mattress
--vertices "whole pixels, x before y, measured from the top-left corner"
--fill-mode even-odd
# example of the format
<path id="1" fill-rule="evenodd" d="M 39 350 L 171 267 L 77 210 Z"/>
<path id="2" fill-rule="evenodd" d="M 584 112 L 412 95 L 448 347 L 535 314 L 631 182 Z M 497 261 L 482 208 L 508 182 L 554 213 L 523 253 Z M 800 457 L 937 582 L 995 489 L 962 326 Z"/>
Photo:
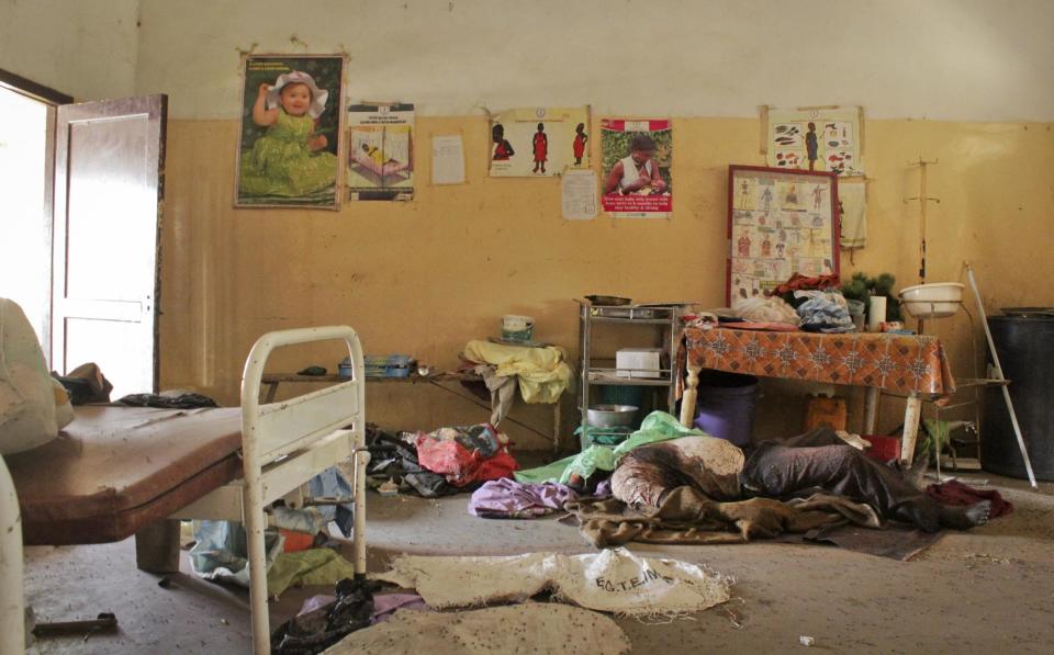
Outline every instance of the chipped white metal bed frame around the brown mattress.
<path id="1" fill-rule="evenodd" d="M 260 384 L 271 352 L 284 346 L 343 340 L 354 364 L 352 377 L 295 398 L 260 404 Z M 268 332 L 254 345 L 242 376 L 243 478 L 214 489 L 179 510 L 173 519 L 244 521 L 249 571 L 266 571 L 265 508 L 295 493 L 337 462 L 352 460 L 355 477 L 354 565 L 366 577 L 366 376 L 362 347 L 347 326 Z M 2 459 L 0 459 L 2 462 Z M 0 463 L 0 653 L 25 650 L 24 571 L 18 493 L 5 463 Z M 270 653 L 267 576 L 250 575 L 253 650 Z"/>

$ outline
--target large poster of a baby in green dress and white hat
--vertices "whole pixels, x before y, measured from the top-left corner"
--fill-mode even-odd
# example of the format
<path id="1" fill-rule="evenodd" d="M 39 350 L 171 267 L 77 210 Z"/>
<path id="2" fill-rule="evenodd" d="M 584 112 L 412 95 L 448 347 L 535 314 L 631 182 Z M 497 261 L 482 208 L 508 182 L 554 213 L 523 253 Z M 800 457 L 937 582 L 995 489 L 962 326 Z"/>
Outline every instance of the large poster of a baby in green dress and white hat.
<path id="1" fill-rule="evenodd" d="M 236 207 L 336 210 L 344 57 L 243 58 Z"/>

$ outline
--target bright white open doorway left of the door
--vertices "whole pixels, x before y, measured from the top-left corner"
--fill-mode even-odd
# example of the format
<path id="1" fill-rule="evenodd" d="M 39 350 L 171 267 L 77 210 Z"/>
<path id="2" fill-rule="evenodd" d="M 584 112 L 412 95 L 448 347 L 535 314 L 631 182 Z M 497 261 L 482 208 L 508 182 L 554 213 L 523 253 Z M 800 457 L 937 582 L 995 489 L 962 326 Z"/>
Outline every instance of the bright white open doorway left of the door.
<path id="1" fill-rule="evenodd" d="M 48 103 L 0 86 L 0 297 L 16 302 L 49 355 Z"/>

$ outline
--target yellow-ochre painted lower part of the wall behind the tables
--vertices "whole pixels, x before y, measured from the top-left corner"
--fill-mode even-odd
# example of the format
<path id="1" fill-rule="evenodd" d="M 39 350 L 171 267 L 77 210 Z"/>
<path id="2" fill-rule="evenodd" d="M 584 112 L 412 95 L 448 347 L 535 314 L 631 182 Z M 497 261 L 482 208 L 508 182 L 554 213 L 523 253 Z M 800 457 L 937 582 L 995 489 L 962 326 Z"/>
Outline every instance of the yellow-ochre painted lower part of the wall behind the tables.
<path id="1" fill-rule="evenodd" d="M 756 120 L 674 121 L 671 221 L 562 221 L 558 180 L 486 177 L 483 117 L 421 117 L 417 128 L 422 137 L 463 135 L 468 183 L 427 184 L 429 144 L 421 138 L 412 203 L 346 203 L 335 213 L 232 208 L 237 123 L 169 123 L 162 388 L 236 403 L 249 347 L 279 328 L 346 323 L 368 353 L 411 353 L 449 369 L 507 313 L 535 316 L 536 337 L 576 358 L 572 298 L 586 293 L 724 304 L 727 167 L 762 163 Z M 854 264 L 843 259 L 843 275 L 889 271 L 898 286 L 917 283 L 918 205 L 902 199 L 918 194 L 908 162 L 919 156 L 940 162 L 930 172 L 929 193 L 942 202 L 929 212 L 929 280 L 958 280 L 969 259 L 989 310 L 1054 305 L 1050 124 L 868 121 L 870 244 Z M 971 366 L 969 323 L 931 326 L 949 340 L 953 364 Z M 317 350 L 279 366 L 334 369 L 338 357 Z M 773 400 L 807 389 L 765 388 L 755 438 L 793 432 L 800 405 Z M 547 410 L 519 410 L 549 429 Z M 564 414 L 576 420 L 570 400 Z M 431 429 L 486 413 L 441 391 L 373 384 L 368 416 L 386 428 Z M 545 448 L 529 431 L 509 431 L 522 448 Z"/>

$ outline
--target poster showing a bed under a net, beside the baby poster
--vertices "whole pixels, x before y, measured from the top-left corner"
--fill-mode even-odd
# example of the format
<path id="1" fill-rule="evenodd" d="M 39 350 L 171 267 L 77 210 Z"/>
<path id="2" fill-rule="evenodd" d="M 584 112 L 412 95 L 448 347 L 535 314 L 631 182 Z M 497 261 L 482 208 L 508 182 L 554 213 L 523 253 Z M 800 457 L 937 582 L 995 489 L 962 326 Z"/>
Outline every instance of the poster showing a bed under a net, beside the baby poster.
<path id="1" fill-rule="evenodd" d="M 348 106 L 348 200 L 414 197 L 414 105 Z"/>

